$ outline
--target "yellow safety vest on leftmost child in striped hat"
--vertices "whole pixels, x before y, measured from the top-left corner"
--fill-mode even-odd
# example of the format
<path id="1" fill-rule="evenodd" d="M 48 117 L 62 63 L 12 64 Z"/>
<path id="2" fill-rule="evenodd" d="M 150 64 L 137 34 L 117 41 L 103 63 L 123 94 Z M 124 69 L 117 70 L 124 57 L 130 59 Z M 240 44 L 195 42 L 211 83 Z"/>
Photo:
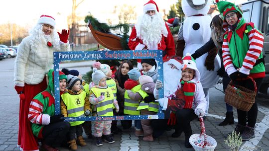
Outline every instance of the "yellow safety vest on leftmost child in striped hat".
<path id="1" fill-rule="evenodd" d="M 80 94 L 63 93 L 61 95 L 64 104 L 67 107 L 68 117 L 84 117 L 84 103 L 87 94 L 81 91 Z M 71 126 L 76 126 L 84 123 L 85 121 L 70 122 Z"/>

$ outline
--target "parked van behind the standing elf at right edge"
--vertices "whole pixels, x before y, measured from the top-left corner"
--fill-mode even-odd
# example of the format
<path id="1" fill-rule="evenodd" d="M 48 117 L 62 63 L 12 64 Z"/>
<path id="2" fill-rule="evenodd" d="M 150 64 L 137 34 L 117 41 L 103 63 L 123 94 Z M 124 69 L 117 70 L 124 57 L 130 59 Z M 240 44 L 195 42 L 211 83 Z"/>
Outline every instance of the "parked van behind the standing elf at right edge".
<path id="1" fill-rule="evenodd" d="M 265 56 L 266 77 L 263 79 L 259 91 L 267 94 L 269 86 L 269 0 L 249 0 L 242 3 L 241 8 L 246 22 L 254 22 L 264 35 L 263 54 Z"/>

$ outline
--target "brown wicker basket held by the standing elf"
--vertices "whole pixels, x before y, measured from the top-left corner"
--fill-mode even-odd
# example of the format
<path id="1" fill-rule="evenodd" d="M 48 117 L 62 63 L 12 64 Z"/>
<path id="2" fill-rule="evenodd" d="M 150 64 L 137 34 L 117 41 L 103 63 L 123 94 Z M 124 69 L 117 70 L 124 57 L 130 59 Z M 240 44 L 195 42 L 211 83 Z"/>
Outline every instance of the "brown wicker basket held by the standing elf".
<path id="1" fill-rule="evenodd" d="M 257 85 L 255 80 L 248 76 L 254 84 L 255 90 L 250 90 L 244 86 L 236 85 L 233 80 L 230 81 L 225 90 L 225 102 L 242 111 L 249 111 L 255 103 Z"/>

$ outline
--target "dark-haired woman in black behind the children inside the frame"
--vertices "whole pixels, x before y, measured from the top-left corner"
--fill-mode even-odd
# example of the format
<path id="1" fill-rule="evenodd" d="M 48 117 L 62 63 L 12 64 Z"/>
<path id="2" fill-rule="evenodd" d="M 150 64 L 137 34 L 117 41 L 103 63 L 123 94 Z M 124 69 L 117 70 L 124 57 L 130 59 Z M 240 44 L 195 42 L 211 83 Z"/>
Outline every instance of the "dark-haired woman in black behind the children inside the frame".
<path id="1" fill-rule="evenodd" d="M 115 81 L 117 85 L 117 101 L 120 106 L 119 115 L 124 115 L 124 94 L 125 94 L 124 83 L 129 78 L 129 75 L 127 75 L 127 73 L 133 68 L 134 66 L 131 61 L 124 60 L 121 63 L 119 69 L 115 73 L 115 78 L 116 78 Z M 123 129 L 129 129 L 132 127 L 132 120 L 121 121 L 121 123 L 122 123 Z"/>

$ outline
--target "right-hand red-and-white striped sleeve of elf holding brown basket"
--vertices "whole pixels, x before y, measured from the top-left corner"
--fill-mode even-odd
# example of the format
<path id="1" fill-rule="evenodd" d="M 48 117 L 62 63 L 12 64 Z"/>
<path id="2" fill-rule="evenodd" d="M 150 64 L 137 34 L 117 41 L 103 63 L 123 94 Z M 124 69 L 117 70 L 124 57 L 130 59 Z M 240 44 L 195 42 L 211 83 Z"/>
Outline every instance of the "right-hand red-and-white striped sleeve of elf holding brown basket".
<path id="1" fill-rule="evenodd" d="M 246 75 L 250 74 L 257 59 L 260 57 L 264 46 L 264 36 L 255 28 L 249 33 L 249 44 L 250 48 L 243 61 L 243 66 L 239 71 Z"/>

